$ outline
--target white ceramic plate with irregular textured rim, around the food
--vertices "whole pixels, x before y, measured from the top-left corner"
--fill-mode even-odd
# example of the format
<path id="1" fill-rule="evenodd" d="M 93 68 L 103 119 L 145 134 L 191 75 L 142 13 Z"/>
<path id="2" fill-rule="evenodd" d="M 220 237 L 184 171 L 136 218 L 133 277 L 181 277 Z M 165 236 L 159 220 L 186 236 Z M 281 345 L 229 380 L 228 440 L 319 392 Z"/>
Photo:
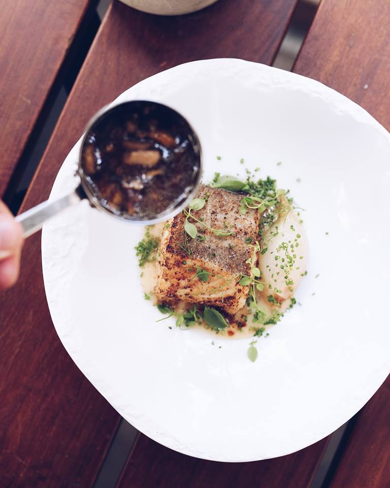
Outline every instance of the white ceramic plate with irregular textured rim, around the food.
<path id="1" fill-rule="evenodd" d="M 252 461 L 318 441 L 356 413 L 390 371 L 383 304 L 389 134 L 316 81 L 237 59 L 178 66 L 118 101 L 136 98 L 166 103 L 189 119 L 203 146 L 205 181 L 214 171 L 244 175 L 258 166 L 259 176 L 291 190 L 306 209 L 310 245 L 309 275 L 297 295 L 303 306 L 258 341 L 254 363 L 247 337 L 156 323 L 161 315 L 143 299 L 134 252 L 141 229 L 83 202 L 45 225 L 42 236 L 60 340 L 126 420 L 177 451 Z M 75 186 L 79 144 L 51 198 Z"/>

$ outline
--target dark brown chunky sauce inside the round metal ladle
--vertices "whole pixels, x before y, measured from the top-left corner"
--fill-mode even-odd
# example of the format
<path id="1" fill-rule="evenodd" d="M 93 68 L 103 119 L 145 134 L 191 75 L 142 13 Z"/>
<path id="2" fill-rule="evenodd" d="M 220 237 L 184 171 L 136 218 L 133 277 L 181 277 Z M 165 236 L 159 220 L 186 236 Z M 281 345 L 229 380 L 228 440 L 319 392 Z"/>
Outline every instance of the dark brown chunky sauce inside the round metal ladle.
<path id="1" fill-rule="evenodd" d="M 89 191 L 112 214 L 152 219 L 178 207 L 197 185 L 199 142 L 175 110 L 126 102 L 88 131 L 81 167 Z"/>

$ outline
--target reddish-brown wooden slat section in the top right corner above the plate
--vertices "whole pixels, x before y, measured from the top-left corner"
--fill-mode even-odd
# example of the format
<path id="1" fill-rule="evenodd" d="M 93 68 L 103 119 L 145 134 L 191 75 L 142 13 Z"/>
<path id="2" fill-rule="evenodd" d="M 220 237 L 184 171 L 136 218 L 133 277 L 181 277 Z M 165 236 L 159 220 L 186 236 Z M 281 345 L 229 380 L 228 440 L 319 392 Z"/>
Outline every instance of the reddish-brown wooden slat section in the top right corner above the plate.
<path id="1" fill-rule="evenodd" d="M 390 2 L 323 0 L 294 71 L 331 86 L 390 129 Z"/>

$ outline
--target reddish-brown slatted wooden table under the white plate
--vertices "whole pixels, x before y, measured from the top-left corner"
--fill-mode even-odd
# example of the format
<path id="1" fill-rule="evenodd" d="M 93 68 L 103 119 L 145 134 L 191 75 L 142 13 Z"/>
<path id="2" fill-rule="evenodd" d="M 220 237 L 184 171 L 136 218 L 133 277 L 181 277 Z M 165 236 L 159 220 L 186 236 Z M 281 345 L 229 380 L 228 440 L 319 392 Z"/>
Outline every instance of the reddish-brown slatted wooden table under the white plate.
<path id="1" fill-rule="evenodd" d="M 86 121 L 129 86 L 195 59 L 239 57 L 272 65 L 297 3 L 220 0 L 188 16 L 157 17 L 114 1 L 20 210 L 47 198 Z M 70 69 L 69 53 L 82 50 L 80 39 L 95 4 L 0 1 L 0 196 L 7 202 L 26 169 L 25 153 L 39 132 L 53 86 Z M 388 0 L 322 0 L 294 71 L 337 89 L 390 129 L 388 32 Z M 120 417 L 76 368 L 54 331 L 40 239 L 36 234 L 26 241 L 21 279 L 0 294 L 0 486 L 89 487 Z M 387 379 L 350 421 L 323 486 L 390 485 L 389 388 Z M 119 480 L 110 486 L 306 487 L 331 437 L 278 459 L 224 464 L 179 454 L 138 435 Z"/>

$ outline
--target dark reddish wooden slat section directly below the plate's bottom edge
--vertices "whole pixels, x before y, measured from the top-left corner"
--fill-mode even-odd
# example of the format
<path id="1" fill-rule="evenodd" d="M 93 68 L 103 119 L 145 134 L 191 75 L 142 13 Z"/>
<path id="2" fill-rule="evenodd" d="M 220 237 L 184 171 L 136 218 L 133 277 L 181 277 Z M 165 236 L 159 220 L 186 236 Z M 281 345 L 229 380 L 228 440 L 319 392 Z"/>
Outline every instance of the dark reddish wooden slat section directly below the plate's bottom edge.
<path id="1" fill-rule="evenodd" d="M 304 488 L 310 486 L 325 446 L 326 442 L 320 441 L 267 461 L 218 463 L 180 454 L 140 434 L 117 488 Z"/>

